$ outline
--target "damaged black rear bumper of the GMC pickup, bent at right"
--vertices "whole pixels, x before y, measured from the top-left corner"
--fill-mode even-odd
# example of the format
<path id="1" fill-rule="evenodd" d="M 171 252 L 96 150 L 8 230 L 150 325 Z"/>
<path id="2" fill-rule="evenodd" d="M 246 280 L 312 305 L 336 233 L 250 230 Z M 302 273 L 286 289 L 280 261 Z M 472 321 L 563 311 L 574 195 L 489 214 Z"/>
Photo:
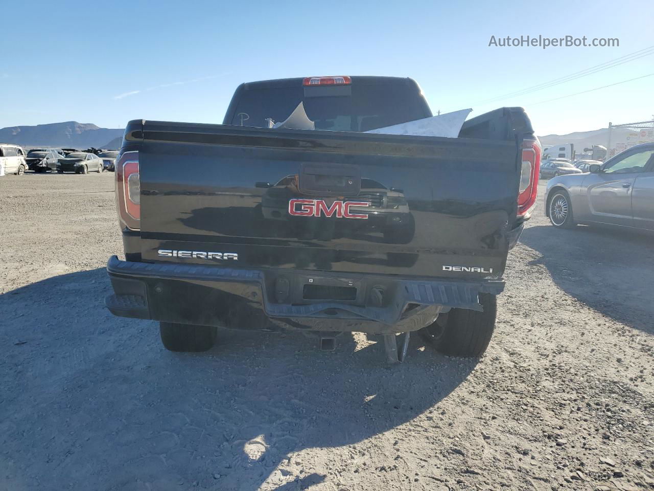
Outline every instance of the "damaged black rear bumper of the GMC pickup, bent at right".
<path id="1" fill-rule="evenodd" d="M 221 268 L 198 264 L 107 263 L 115 316 L 274 331 L 371 334 L 416 331 L 446 308 L 482 310 L 479 293 L 502 280 L 420 280 L 383 275 Z M 305 287 L 356 289 L 351 300 L 306 300 Z"/>

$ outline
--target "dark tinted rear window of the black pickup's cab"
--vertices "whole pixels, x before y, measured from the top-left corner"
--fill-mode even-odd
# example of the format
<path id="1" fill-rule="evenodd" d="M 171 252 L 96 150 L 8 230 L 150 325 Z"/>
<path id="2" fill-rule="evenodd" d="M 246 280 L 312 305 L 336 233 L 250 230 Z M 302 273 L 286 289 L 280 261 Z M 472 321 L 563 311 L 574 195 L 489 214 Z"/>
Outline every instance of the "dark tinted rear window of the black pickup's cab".
<path id="1" fill-rule="evenodd" d="M 353 82 L 243 90 L 232 124 L 267 128 L 267 118 L 282 122 L 300 102 L 317 130 L 365 132 L 432 115 L 415 86 Z"/>

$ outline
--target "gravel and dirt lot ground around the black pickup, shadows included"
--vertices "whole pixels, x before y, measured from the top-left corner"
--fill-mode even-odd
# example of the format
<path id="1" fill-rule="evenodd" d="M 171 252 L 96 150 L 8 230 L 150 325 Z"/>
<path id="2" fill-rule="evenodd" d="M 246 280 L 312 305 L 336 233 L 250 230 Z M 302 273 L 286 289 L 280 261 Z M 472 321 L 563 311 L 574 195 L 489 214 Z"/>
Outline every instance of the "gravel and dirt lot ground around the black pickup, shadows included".
<path id="1" fill-rule="evenodd" d="M 540 205 L 480 361 L 238 331 L 173 354 L 103 307 L 113 177 L 0 178 L 0 490 L 654 488 L 651 237 Z"/>

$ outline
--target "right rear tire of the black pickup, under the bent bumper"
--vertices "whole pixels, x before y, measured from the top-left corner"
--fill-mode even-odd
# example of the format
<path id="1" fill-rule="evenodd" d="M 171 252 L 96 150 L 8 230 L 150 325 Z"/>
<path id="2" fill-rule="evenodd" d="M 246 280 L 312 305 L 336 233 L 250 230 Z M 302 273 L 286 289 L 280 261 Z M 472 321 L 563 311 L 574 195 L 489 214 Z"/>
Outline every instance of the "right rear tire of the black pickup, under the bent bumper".
<path id="1" fill-rule="evenodd" d="M 479 293 L 483 312 L 453 308 L 445 320 L 437 319 L 425 327 L 425 335 L 436 344 L 439 352 L 449 356 L 480 357 L 486 351 L 495 329 L 497 298 Z"/>

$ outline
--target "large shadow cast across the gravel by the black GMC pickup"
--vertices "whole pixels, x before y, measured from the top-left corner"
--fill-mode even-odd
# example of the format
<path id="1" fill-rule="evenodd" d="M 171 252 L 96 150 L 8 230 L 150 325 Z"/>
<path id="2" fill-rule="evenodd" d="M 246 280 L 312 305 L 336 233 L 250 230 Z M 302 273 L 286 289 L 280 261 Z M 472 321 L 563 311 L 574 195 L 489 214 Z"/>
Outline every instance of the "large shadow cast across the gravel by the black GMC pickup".
<path id="1" fill-rule="evenodd" d="M 381 343 L 358 349 L 351 335 L 328 353 L 298 333 L 222 331 L 210 352 L 174 354 L 156 323 L 112 317 L 109 291 L 99 268 L 0 296 L 4 487 L 307 488 L 332 477 L 314 472 L 315 454 L 294 452 L 338 448 L 331 465 L 364 465 L 343 446 L 432 411 L 476 363 L 419 336 L 394 367 Z M 393 438 L 379 443 L 390 464 Z"/>

